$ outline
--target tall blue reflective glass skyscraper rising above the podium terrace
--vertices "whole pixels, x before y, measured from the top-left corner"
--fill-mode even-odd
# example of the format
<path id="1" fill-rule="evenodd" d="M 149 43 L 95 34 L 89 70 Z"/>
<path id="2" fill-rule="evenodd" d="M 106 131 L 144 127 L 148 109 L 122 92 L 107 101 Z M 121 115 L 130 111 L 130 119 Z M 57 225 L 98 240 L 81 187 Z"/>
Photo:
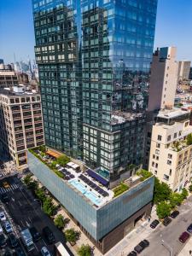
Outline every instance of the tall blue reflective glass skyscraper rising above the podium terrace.
<path id="1" fill-rule="evenodd" d="M 111 184 L 143 162 L 157 0 L 32 0 L 45 142 Z"/>

